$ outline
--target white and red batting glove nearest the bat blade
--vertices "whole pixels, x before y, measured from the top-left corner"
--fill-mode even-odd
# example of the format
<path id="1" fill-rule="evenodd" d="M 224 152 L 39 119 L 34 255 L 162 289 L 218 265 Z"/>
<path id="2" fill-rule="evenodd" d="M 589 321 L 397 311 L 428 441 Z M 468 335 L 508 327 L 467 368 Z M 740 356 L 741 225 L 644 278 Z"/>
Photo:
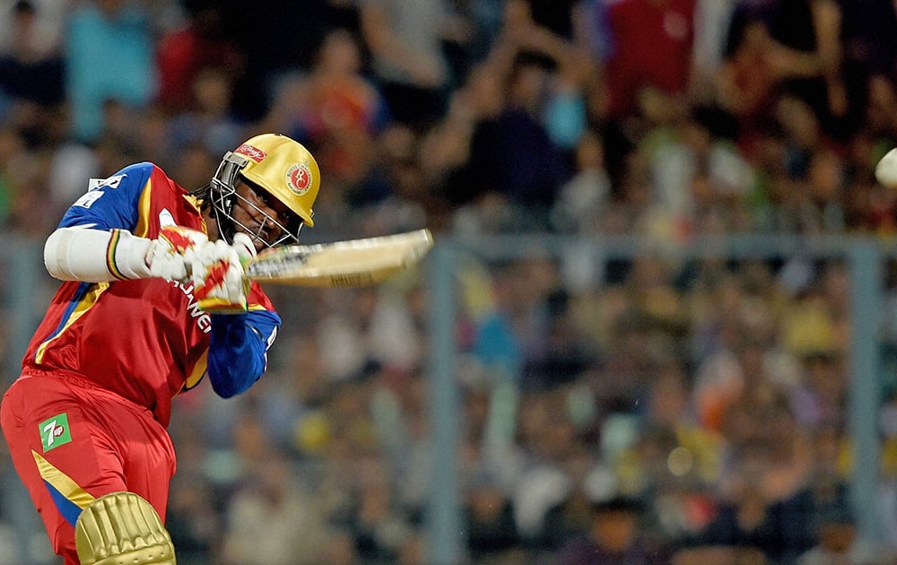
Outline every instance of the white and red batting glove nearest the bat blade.
<path id="1" fill-rule="evenodd" d="M 243 265 L 255 255 L 256 248 L 245 233 L 234 235 L 233 245 L 219 239 L 188 253 L 199 309 L 213 314 L 246 312 L 249 280 L 243 274 Z"/>

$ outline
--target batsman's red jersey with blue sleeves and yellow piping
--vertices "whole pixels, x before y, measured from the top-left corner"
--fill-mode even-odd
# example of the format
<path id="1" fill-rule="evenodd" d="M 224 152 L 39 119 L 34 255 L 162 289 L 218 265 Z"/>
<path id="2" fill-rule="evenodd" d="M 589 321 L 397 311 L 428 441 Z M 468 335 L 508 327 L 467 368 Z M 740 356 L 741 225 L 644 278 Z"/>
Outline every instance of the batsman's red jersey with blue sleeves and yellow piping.
<path id="1" fill-rule="evenodd" d="M 161 226 L 172 224 L 207 232 L 196 198 L 152 163 L 128 166 L 92 185 L 59 227 L 129 230 L 149 239 L 157 237 Z M 252 283 L 248 303 L 247 315 L 210 315 L 197 308 L 188 283 L 63 282 L 22 365 L 77 373 L 145 406 L 167 426 L 171 398 L 195 387 L 206 369 L 216 392 L 227 391 L 222 395 L 242 392 L 251 384 L 225 382 L 231 375 L 222 373 L 228 371 L 234 378 L 245 378 L 233 366 L 242 369 L 246 361 L 234 363 L 229 356 L 254 358 L 247 371 L 256 373 L 251 381 L 264 371 L 280 317 L 257 282 Z M 248 338 L 222 335 L 237 324 L 248 327 Z M 213 334 L 219 335 L 217 343 Z"/>

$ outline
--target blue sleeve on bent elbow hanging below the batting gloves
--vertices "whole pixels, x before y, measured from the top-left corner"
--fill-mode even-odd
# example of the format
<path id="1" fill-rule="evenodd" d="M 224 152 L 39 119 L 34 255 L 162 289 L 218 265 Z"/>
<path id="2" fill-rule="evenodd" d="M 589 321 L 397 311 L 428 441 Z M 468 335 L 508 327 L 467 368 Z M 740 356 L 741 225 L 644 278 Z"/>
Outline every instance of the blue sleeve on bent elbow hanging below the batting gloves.
<path id="1" fill-rule="evenodd" d="M 267 310 L 212 315 L 208 375 L 215 394 L 239 395 L 261 378 L 280 325 L 281 318 Z"/>

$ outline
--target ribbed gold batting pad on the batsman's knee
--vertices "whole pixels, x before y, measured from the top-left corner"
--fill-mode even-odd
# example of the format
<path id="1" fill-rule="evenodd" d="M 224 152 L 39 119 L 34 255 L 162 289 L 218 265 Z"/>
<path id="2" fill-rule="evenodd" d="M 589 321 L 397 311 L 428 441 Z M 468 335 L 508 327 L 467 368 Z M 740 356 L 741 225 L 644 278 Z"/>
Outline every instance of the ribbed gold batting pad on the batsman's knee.
<path id="1" fill-rule="evenodd" d="M 175 565 L 159 514 L 134 492 L 112 492 L 84 508 L 74 545 L 82 565 Z"/>

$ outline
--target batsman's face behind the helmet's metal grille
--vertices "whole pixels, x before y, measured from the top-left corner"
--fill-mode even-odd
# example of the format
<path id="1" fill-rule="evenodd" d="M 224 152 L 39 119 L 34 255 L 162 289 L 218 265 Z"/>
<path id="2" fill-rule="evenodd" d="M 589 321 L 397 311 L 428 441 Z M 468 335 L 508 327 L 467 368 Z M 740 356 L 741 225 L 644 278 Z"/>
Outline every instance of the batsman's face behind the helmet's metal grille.
<path id="1" fill-rule="evenodd" d="M 231 215 L 238 230 L 242 229 L 253 236 L 257 250 L 265 247 L 262 240 L 274 243 L 283 236 L 284 227 L 296 222 L 292 210 L 262 187 L 239 178 L 236 188 L 238 197 L 234 199 Z"/>

